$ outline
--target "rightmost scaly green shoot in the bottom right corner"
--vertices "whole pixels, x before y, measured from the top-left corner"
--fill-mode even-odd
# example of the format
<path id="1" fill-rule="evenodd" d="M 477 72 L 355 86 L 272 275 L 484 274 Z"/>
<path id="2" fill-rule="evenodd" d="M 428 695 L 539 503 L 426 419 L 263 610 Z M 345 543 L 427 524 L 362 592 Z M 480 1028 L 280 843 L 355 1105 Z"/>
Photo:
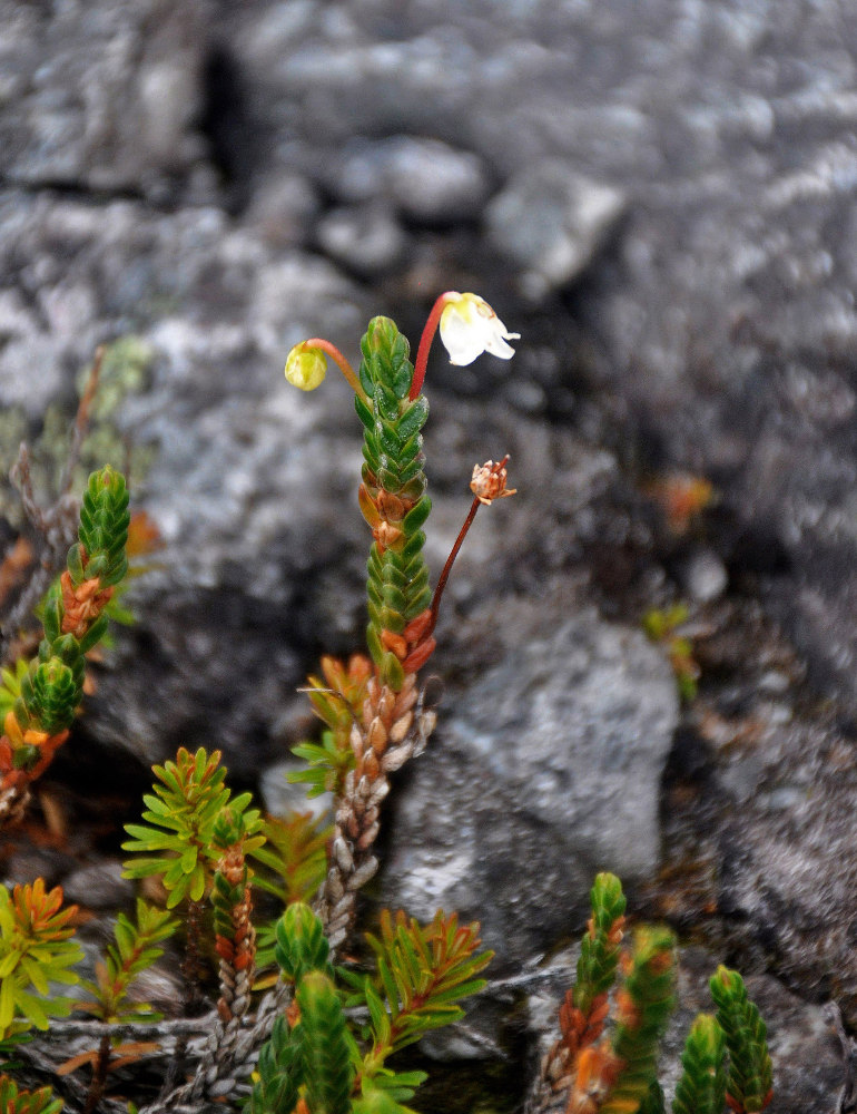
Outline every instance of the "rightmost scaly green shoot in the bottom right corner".
<path id="1" fill-rule="evenodd" d="M 738 971 L 718 967 L 709 987 L 729 1049 L 730 1105 L 746 1114 L 756 1114 L 770 1102 L 774 1075 L 765 1022 L 747 997 Z"/>

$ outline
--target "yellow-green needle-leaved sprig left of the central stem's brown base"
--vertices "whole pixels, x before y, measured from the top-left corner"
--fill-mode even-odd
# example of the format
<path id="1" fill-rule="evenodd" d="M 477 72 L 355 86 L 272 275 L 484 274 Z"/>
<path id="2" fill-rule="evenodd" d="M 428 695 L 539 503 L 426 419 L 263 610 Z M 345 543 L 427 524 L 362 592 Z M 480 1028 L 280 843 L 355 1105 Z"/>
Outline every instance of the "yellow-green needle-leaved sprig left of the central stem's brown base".
<path id="1" fill-rule="evenodd" d="M 209 758 L 201 746 L 195 755 L 183 746 L 175 762 L 152 768 L 161 784 L 144 797 L 147 809 L 142 819 L 147 823 L 126 824 L 125 830 L 132 838 L 122 843 L 124 850 L 146 858 L 126 862 L 124 877 L 161 874 L 168 909 L 185 899 L 201 901 L 205 896 L 220 857 L 215 833 L 227 805 L 233 821 L 242 818 L 245 853 L 252 853 L 265 841 L 259 811 L 249 808 L 250 794 L 232 798 L 219 761 L 218 751 Z"/>

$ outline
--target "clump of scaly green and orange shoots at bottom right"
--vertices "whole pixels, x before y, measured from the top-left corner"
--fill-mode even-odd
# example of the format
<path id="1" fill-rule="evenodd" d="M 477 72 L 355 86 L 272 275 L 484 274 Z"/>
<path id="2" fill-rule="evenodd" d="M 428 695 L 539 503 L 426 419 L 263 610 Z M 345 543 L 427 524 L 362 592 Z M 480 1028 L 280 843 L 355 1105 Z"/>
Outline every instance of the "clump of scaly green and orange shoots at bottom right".
<path id="1" fill-rule="evenodd" d="M 676 941 L 666 928 L 639 928 L 622 949 L 625 901 L 619 879 L 602 873 L 577 979 L 560 1007 L 560 1039 L 542 1079 L 568 1093 L 569 1114 L 662 1114 L 658 1047 L 673 1007 Z M 615 989 L 612 1029 L 609 995 Z M 681 1057 L 673 1114 L 756 1114 L 771 1098 L 765 1024 L 741 976 L 720 967 L 711 979 L 717 1016 L 700 1014 Z M 727 1059 L 729 1071 L 727 1075 Z"/>

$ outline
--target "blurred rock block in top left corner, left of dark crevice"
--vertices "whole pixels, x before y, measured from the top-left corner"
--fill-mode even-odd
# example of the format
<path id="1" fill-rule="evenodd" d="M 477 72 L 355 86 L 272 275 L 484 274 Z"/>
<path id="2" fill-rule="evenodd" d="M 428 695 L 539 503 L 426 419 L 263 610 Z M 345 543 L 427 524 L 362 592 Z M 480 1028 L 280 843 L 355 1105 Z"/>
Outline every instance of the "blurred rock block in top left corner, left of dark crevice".
<path id="1" fill-rule="evenodd" d="M 0 150 L 17 184 L 158 193 L 205 158 L 205 0 L 0 6 Z"/>

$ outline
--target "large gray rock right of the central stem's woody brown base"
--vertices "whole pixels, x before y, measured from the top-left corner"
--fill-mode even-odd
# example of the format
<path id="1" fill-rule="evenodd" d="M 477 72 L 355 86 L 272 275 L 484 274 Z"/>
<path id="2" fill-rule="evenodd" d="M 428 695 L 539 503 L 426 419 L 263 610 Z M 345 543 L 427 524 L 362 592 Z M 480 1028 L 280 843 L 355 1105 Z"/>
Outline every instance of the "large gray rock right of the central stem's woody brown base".
<path id="1" fill-rule="evenodd" d="M 642 634 L 585 610 L 539 636 L 540 615 L 460 694 L 396 794 L 383 873 L 384 900 L 414 916 L 479 911 L 502 965 L 567 932 L 598 870 L 632 885 L 656 869 L 678 715 Z"/>

